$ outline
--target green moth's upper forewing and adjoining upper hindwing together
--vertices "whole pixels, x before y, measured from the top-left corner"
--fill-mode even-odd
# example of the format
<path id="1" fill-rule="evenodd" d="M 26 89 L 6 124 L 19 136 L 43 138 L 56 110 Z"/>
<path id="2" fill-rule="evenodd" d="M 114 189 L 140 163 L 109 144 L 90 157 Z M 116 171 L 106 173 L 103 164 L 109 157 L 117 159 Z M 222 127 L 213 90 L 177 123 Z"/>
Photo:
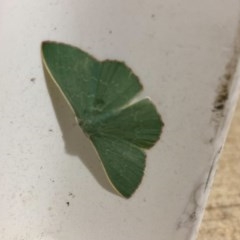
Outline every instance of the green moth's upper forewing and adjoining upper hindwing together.
<path id="1" fill-rule="evenodd" d="M 43 42 L 42 55 L 48 73 L 79 119 L 119 108 L 142 89 L 123 62 L 100 62 L 79 48 L 49 41 Z"/>

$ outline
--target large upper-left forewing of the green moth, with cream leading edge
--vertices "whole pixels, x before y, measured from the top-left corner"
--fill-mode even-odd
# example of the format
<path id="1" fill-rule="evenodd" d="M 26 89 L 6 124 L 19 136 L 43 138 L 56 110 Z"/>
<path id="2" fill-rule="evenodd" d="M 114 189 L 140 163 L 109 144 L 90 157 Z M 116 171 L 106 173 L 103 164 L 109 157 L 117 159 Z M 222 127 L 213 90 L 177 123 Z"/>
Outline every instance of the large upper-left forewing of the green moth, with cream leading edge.
<path id="1" fill-rule="evenodd" d="M 43 63 L 78 118 L 92 108 L 100 63 L 82 50 L 63 43 L 43 42 Z"/>

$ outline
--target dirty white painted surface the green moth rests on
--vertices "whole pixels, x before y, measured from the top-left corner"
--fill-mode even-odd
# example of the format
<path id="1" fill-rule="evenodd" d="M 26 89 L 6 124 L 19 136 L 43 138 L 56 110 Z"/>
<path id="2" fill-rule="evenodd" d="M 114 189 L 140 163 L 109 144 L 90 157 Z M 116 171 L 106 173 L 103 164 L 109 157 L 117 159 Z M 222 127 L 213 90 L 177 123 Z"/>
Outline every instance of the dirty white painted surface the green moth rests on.
<path id="1" fill-rule="evenodd" d="M 238 14 L 237 0 L 0 0 L 0 239 L 194 238 L 226 135 L 212 109 Z M 165 128 L 130 200 L 108 190 L 73 114 L 48 90 L 43 40 L 124 60 L 156 103 Z"/>

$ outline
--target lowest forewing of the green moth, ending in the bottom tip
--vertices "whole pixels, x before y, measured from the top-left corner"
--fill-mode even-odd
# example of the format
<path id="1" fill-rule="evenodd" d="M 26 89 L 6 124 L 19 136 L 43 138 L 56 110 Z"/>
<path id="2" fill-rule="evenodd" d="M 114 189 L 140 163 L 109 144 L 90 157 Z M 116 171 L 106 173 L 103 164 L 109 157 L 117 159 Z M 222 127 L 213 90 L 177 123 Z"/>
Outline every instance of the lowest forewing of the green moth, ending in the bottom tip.
<path id="1" fill-rule="evenodd" d="M 91 140 L 113 187 L 129 198 L 141 183 L 145 153 L 116 137 L 91 136 Z"/>

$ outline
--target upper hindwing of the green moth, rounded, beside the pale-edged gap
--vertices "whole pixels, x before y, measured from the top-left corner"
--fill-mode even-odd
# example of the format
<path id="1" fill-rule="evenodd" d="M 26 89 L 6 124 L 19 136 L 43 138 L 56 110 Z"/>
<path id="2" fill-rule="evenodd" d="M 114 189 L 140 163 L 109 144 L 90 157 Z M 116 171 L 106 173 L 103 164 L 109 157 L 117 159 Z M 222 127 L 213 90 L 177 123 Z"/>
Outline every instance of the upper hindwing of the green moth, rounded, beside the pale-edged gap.
<path id="1" fill-rule="evenodd" d="M 122 107 L 142 90 L 138 77 L 123 62 L 102 62 L 98 79 L 94 107 L 101 112 Z"/>

